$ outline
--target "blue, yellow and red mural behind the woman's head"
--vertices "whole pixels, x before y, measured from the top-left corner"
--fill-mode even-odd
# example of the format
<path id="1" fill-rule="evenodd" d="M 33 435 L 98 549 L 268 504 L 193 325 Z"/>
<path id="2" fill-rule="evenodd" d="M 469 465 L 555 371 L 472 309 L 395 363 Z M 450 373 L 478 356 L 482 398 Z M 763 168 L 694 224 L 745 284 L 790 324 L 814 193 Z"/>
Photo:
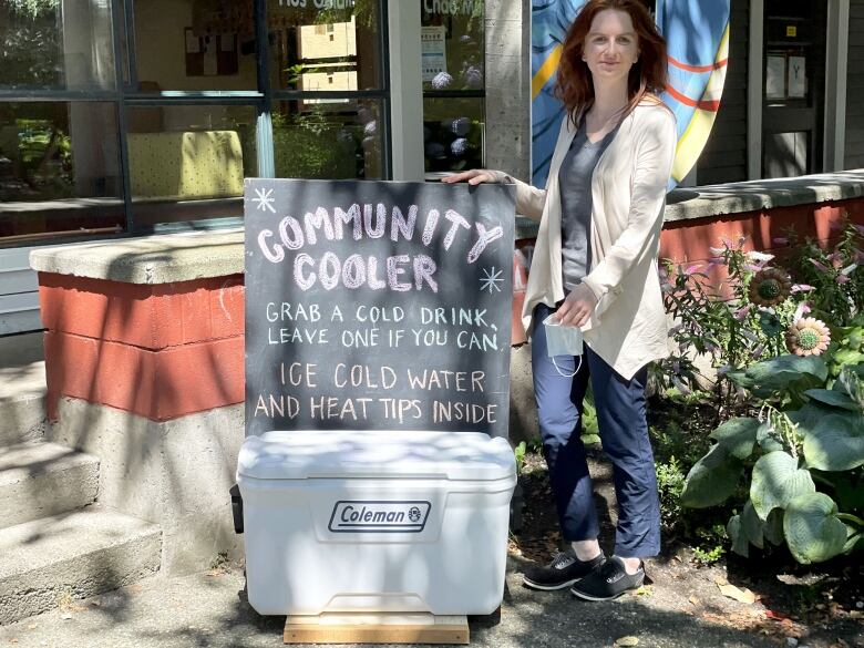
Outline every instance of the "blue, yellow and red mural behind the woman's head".
<path id="1" fill-rule="evenodd" d="M 678 120 L 669 188 L 690 172 L 711 133 L 729 61 L 730 0 L 657 0 L 657 23 L 669 48 L 662 100 Z M 532 0 L 532 182 L 546 184 L 564 117 L 554 96 L 560 43 L 585 0 Z"/>

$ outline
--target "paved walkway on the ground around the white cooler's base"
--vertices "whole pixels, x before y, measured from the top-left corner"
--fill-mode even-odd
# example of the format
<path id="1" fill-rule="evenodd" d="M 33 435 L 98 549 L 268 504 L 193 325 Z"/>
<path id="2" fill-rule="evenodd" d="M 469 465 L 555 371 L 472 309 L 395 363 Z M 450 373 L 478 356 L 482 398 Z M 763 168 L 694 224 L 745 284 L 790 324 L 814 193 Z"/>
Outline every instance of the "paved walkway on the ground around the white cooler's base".
<path id="1" fill-rule="evenodd" d="M 475 647 L 610 647 L 636 636 L 639 648 L 778 646 L 776 639 L 712 624 L 680 609 L 688 592 L 656 584 L 651 595 L 585 604 L 568 592 L 523 588 L 507 574 L 501 619 L 471 620 Z M 706 578 L 711 578 L 706 573 Z M 706 601 L 710 608 L 710 601 Z M 236 568 L 179 578 L 154 577 L 125 589 L 0 627 L 0 647 L 17 648 L 258 648 L 281 646 L 285 617 L 260 617 L 246 603 Z"/>

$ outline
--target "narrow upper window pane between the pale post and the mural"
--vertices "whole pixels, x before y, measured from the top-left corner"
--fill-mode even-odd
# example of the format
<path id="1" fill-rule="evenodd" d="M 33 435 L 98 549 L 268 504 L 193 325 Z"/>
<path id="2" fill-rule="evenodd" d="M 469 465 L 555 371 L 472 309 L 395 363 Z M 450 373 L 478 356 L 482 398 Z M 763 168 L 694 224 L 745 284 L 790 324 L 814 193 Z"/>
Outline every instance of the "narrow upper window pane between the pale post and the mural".
<path id="1" fill-rule="evenodd" d="M 423 89 L 482 90 L 483 0 L 423 0 L 420 21 Z"/>

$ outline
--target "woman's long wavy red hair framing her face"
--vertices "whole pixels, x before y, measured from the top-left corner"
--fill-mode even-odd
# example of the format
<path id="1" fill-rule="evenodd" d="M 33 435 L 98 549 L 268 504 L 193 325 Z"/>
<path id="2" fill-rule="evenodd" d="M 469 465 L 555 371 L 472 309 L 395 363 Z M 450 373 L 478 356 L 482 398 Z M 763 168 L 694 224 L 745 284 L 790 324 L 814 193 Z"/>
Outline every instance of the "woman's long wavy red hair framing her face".
<path id="1" fill-rule="evenodd" d="M 657 30 L 645 4 L 640 0 L 588 0 L 562 44 L 558 81 L 555 86 L 556 96 L 564 102 L 567 113 L 574 120 L 577 113 L 587 111 L 594 104 L 592 73 L 582 56 L 585 39 L 595 17 L 607 9 L 627 13 L 638 37 L 639 60 L 630 68 L 627 78 L 627 95 L 630 101 L 624 114 L 632 111 L 646 95 L 658 95 L 666 90 L 666 40 Z"/>

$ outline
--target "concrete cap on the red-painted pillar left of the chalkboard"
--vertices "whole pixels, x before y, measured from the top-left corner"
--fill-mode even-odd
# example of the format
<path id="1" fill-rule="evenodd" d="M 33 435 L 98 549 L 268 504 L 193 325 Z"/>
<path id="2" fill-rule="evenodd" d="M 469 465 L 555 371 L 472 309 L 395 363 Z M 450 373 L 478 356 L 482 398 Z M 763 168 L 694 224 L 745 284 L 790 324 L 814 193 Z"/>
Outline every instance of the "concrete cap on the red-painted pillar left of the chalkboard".
<path id="1" fill-rule="evenodd" d="M 30 253 L 40 272 L 127 284 L 172 284 L 244 271 L 244 232 L 172 234 L 47 247 Z"/>

